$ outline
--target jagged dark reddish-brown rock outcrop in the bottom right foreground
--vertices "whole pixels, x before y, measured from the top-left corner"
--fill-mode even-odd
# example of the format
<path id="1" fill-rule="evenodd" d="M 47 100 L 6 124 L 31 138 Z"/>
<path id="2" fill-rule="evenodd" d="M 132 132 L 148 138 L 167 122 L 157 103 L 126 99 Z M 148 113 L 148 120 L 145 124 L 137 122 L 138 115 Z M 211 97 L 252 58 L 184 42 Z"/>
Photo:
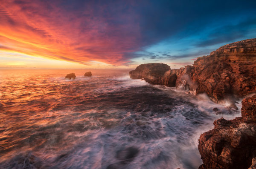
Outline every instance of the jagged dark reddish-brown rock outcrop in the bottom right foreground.
<path id="1" fill-rule="evenodd" d="M 256 95 L 242 101 L 242 117 L 215 120 L 214 129 L 199 138 L 199 169 L 255 169 Z"/>

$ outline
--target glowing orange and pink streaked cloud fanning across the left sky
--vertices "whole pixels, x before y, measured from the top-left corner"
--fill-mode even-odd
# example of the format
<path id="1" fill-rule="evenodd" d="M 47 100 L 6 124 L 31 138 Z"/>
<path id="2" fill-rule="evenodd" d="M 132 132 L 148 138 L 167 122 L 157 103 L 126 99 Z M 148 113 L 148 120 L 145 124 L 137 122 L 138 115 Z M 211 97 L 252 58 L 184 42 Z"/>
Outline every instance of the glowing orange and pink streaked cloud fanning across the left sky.
<path id="1" fill-rule="evenodd" d="M 37 0 L 1 2 L 0 51 L 85 65 L 92 61 L 125 65 L 129 58 L 124 54 L 137 49 L 138 24 L 115 27 L 108 16 L 92 16 L 95 9 L 69 11 L 58 5 Z"/>

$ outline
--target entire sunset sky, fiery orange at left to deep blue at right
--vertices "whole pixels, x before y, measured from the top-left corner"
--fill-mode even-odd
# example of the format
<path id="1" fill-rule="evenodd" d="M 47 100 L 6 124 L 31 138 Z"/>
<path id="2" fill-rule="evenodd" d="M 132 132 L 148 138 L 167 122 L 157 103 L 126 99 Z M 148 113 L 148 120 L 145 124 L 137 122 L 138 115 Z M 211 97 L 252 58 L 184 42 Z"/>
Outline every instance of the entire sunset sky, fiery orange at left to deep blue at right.
<path id="1" fill-rule="evenodd" d="M 256 0 L 0 1 L 4 69 L 178 69 L 256 37 Z"/>

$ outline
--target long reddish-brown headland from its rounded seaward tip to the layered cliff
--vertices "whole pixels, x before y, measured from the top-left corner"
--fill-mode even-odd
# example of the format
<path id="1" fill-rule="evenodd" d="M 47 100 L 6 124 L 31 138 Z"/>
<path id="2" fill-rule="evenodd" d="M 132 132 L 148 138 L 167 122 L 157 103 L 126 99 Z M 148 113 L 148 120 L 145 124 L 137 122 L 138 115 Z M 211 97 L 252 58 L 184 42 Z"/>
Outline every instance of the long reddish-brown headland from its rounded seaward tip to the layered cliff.
<path id="1" fill-rule="evenodd" d="M 130 77 L 207 93 L 215 103 L 226 98 L 234 102 L 234 96 L 256 92 L 256 38 L 222 46 L 208 56 L 198 57 L 193 66 L 180 69 L 170 69 L 163 63 L 143 64 L 131 71 Z"/>

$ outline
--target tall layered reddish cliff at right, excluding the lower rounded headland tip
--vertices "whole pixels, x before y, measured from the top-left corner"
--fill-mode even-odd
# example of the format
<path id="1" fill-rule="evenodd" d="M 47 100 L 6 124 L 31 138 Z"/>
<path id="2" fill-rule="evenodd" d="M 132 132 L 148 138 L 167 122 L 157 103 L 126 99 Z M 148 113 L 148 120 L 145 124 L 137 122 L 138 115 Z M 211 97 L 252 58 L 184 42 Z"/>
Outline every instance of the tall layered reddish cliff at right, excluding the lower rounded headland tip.
<path id="1" fill-rule="evenodd" d="M 230 95 L 256 91 L 256 39 L 220 47 L 194 62 L 197 93 L 207 93 L 216 103 Z"/>

